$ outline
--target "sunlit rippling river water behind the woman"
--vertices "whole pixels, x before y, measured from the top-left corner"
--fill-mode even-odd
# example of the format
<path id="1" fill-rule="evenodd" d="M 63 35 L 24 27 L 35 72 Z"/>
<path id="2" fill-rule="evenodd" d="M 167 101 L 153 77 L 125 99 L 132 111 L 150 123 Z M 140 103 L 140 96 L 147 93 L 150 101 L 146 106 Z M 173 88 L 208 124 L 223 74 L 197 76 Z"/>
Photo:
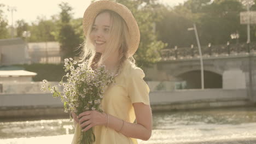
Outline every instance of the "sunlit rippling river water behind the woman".
<path id="1" fill-rule="evenodd" d="M 0 143 L 71 143 L 69 119 L 0 120 Z M 256 107 L 153 113 L 153 131 L 139 143 L 204 143 L 256 140 Z M 249 142 L 251 141 L 251 142 Z M 256 141 L 255 141 L 256 143 Z"/>

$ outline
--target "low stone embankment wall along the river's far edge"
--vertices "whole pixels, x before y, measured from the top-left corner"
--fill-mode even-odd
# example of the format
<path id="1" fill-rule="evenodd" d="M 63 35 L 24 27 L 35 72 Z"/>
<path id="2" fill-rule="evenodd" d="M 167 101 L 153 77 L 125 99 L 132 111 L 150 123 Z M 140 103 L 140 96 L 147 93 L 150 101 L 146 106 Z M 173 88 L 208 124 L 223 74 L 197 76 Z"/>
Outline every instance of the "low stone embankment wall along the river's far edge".
<path id="1" fill-rule="evenodd" d="M 248 106 L 246 89 L 190 89 L 149 93 L 153 111 Z M 0 94 L 0 117 L 67 115 L 51 93 Z"/>

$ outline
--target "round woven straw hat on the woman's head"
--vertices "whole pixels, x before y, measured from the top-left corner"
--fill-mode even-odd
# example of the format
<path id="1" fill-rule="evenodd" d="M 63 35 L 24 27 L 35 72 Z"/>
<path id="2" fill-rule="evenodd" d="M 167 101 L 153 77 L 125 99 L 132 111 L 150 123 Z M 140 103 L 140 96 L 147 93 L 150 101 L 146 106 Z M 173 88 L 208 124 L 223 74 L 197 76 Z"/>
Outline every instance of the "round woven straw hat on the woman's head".
<path id="1" fill-rule="evenodd" d="M 130 47 L 128 49 L 128 55 L 131 57 L 138 49 L 140 34 L 135 18 L 133 17 L 131 11 L 123 4 L 113 1 L 96 1 L 91 3 L 84 12 L 83 28 L 85 36 L 87 35 L 89 30 L 88 28 L 94 22 L 97 14 L 106 9 L 118 13 L 126 22 L 131 38 Z"/>

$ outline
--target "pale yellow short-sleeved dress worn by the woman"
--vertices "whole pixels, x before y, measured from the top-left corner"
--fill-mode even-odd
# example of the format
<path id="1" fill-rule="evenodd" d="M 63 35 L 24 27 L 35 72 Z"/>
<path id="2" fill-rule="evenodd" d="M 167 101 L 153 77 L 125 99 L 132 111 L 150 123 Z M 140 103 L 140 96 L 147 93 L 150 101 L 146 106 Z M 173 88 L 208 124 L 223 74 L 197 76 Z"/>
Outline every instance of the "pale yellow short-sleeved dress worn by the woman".
<path id="1" fill-rule="evenodd" d="M 124 62 L 120 74 L 115 77 L 115 83 L 108 86 L 101 101 L 105 113 L 124 119 L 126 122 L 135 122 L 135 111 L 132 103 L 149 103 L 149 87 L 143 80 L 145 76 L 141 68 L 129 61 Z M 127 137 L 114 129 L 104 125 L 92 127 L 96 141 L 94 144 L 137 144 L 137 139 Z M 76 144 L 81 133 L 80 125 L 75 125 L 72 143 Z"/>

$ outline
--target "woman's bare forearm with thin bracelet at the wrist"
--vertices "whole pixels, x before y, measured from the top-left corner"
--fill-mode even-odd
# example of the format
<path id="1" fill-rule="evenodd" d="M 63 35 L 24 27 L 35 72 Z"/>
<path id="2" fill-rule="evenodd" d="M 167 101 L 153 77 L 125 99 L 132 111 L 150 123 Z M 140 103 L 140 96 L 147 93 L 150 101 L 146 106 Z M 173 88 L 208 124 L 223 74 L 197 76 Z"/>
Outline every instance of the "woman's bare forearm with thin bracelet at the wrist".
<path id="1" fill-rule="evenodd" d="M 107 125 L 107 123 L 106 123 Z M 141 139 L 147 141 L 151 136 L 151 130 L 147 129 L 141 124 L 125 122 L 123 128 L 123 121 L 117 117 L 108 114 L 108 127 L 114 129 L 115 131 L 119 131 L 119 133 L 132 137 L 135 139 Z"/>

